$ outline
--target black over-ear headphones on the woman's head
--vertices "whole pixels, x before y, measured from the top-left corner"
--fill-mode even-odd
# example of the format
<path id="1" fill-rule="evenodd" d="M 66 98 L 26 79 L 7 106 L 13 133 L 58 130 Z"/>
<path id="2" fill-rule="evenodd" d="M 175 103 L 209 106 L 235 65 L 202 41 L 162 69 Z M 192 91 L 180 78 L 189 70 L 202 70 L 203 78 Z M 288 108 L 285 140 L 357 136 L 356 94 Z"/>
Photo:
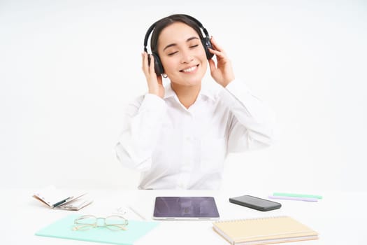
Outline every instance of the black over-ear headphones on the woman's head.
<path id="1" fill-rule="evenodd" d="M 212 43 L 210 42 L 210 36 L 208 34 L 208 31 L 203 27 L 203 25 L 201 24 L 201 22 L 199 22 L 199 20 L 196 20 L 194 17 L 190 15 L 183 15 L 183 16 L 194 21 L 199 26 L 199 29 L 201 29 L 203 33 L 205 34 L 205 36 L 201 38 L 201 43 L 203 43 L 203 47 L 206 52 L 206 58 L 211 59 L 213 57 L 213 54 L 209 52 L 209 48 L 211 49 L 214 49 L 214 48 L 213 48 Z M 159 21 L 161 20 L 158 20 L 157 22 Z M 157 25 L 157 22 L 154 22 L 153 25 L 151 25 L 149 29 L 147 29 L 147 33 L 145 34 L 145 38 L 144 38 L 144 51 L 145 52 L 147 52 L 147 39 L 149 38 L 150 34 L 152 33 L 154 27 Z M 161 74 L 164 73 L 164 69 L 161 64 L 161 59 L 159 59 L 159 55 L 155 52 L 152 52 L 152 56 L 154 57 L 154 71 L 155 73 L 157 73 L 157 76 L 161 76 Z M 148 61 L 150 64 L 150 57 L 148 57 Z"/>

